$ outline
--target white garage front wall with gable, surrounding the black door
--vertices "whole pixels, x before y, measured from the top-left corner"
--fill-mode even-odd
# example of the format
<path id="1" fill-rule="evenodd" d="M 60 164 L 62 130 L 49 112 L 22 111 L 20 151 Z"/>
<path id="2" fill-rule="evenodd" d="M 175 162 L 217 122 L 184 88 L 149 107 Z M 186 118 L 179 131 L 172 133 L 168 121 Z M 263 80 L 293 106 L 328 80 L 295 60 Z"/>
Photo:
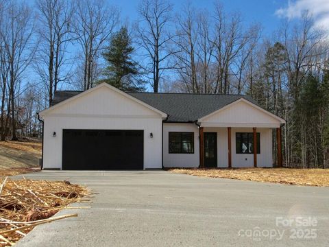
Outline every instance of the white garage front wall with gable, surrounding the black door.
<path id="1" fill-rule="evenodd" d="M 99 86 L 82 97 L 67 101 L 40 113 L 45 121 L 44 142 L 47 143 L 44 147 L 45 169 L 62 169 L 64 129 L 144 130 L 144 169 L 162 167 L 163 115 L 110 86 Z"/>

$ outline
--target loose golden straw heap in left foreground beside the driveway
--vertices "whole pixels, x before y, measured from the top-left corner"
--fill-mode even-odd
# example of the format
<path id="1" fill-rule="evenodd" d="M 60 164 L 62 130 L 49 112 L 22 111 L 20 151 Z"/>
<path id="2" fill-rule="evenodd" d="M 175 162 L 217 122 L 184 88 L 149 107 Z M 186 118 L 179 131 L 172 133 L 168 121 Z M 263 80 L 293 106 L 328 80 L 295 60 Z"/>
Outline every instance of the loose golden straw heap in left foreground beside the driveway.
<path id="1" fill-rule="evenodd" d="M 60 209 L 89 208 L 69 207 L 73 202 L 90 202 L 84 198 L 89 194 L 86 187 L 69 181 L 0 180 L 0 246 L 14 245 L 38 224 L 76 217 L 76 213 L 51 216 Z"/>

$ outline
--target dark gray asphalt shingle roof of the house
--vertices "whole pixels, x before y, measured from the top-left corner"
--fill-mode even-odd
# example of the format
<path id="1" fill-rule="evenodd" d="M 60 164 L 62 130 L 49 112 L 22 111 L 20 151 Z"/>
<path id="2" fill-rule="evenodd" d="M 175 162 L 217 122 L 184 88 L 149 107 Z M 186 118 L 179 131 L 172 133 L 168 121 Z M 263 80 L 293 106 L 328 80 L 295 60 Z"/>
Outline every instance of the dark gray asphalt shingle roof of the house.
<path id="1" fill-rule="evenodd" d="M 81 91 L 56 91 L 53 104 L 58 104 Z M 133 97 L 169 115 L 167 121 L 195 121 L 223 108 L 241 97 L 257 104 L 247 95 L 210 95 L 188 93 L 129 93 Z"/>

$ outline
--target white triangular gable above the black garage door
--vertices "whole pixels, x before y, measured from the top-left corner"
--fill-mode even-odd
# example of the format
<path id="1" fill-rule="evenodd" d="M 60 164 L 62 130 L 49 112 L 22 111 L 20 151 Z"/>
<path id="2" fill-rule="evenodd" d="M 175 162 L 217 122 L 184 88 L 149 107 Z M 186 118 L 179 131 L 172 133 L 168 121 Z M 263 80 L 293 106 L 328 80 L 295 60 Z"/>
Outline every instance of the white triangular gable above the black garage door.
<path id="1" fill-rule="evenodd" d="M 62 102 L 47 113 L 52 116 L 104 116 L 104 117 L 160 117 L 147 106 L 136 102 L 130 95 L 114 91 L 108 86 L 99 86 L 97 89 L 75 97 L 68 102 Z"/>

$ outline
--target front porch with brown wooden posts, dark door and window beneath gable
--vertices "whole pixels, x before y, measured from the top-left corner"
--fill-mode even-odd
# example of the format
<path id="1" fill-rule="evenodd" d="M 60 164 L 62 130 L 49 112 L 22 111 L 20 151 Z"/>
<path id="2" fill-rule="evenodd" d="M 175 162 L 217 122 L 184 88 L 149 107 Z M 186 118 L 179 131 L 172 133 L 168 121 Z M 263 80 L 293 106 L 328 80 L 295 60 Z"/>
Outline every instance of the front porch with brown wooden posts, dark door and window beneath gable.
<path id="1" fill-rule="evenodd" d="M 272 167 L 273 131 L 282 166 L 281 128 L 199 127 L 199 167 Z M 254 145 L 256 143 L 256 145 Z"/>

